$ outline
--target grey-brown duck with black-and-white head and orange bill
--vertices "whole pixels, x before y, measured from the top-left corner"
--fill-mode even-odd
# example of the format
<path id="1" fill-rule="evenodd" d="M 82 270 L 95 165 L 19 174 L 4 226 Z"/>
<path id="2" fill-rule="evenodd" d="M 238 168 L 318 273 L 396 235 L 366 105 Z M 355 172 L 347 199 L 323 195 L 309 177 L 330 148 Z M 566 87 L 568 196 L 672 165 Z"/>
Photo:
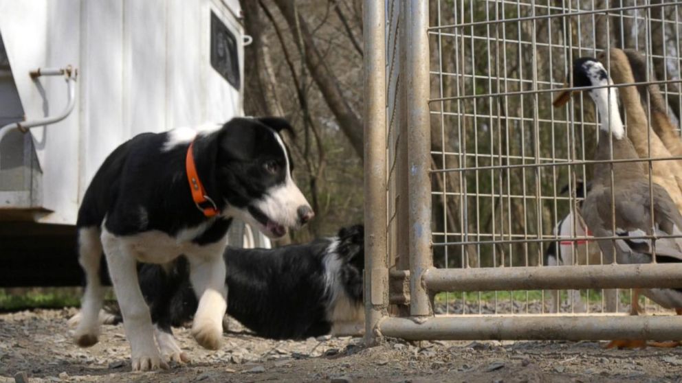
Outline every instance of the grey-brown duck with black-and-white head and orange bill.
<path id="1" fill-rule="evenodd" d="M 613 69 L 613 61 L 611 62 Z M 599 114 L 599 143 L 595 150 L 595 160 L 628 160 L 637 159 L 639 154 L 631 139 L 618 111 L 618 92 L 613 80 L 608 76 L 604 65 L 596 58 L 578 58 L 573 62 L 572 78 L 574 87 L 602 86 L 588 89 L 586 92 L 593 100 Z M 634 89 L 625 86 L 623 91 Z M 561 91 L 553 103 L 560 107 L 570 99 L 571 91 Z M 637 102 L 639 105 L 639 102 Z M 632 107 L 626 104 L 626 107 Z M 641 108 L 641 105 L 639 105 Z M 626 111 L 627 113 L 627 111 Z M 632 115 L 632 111 L 630 111 Z M 641 116 L 634 116 L 641 117 Z M 628 124 L 641 123 L 637 118 L 628 118 Z M 641 120 L 641 118 L 639 118 Z M 644 121 L 646 124 L 646 121 Z M 646 125 L 645 125 L 646 126 Z M 628 126 L 631 130 L 631 126 Z M 613 186 L 611 185 L 611 169 L 613 167 Z M 652 262 L 682 262 L 682 238 L 659 238 L 654 242 L 642 239 L 642 235 L 682 235 L 682 215 L 676 207 L 668 191 L 659 183 L 653 181 L 650 185 L 648 169 L 642 162 L 595 163 L 593 169 L 592 187 L 586 196 L 581 213 L 597 238 L 606 262 L 619 264 L 646 264 Z M 650 187 L 651 186 L 651 187 Z M 650 193 L 651 191 L 651 193 Z M 613 193 L 613 199 L 612 199 Z M 612 203 L 613 202 L 613 203 Z M 652 203 L 651 203 L 652 202 Z M 650 212 L 653 211 L 653 216 Z M 612 215 L 613 214 L 613 215 Z M 612 218 L 615 218 L 613 220 Z M 651 228 L 655 232 L 651 232 Z M 615 228 L 615 233 L 613 231 Z M 599 237 L 613 237 L 621 239 L 599 240 Z M 652 301 L 666 308 L 676 309 L 682 314 L 682 289 L 650 288 L 640 289 L 638 292 Z M 632 305 L 630 314 L 637 315 L 638 307 Z M 672 347 L 679 343 L 647 343 L 643 340 L 614 340 L 606 347 L 634 348 L 647 345 Z"/>

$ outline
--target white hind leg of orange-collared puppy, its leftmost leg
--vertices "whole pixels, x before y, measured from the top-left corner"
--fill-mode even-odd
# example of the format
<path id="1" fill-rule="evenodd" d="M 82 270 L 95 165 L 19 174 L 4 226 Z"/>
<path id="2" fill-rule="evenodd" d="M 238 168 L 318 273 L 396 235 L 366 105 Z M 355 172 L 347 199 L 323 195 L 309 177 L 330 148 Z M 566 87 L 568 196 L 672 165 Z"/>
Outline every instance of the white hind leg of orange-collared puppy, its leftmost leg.
<path id="1" fill-rule="evenodd" d="M 90 347 L 97 343 L 100 334 L 99 313 L 104 302 L 100 281 L 102 243 L 98 228 L 86 227 L 78 231 L 78 253 L 78 263 L 85 272 L 85 293 L 74 340 L 80 347 Z"/>

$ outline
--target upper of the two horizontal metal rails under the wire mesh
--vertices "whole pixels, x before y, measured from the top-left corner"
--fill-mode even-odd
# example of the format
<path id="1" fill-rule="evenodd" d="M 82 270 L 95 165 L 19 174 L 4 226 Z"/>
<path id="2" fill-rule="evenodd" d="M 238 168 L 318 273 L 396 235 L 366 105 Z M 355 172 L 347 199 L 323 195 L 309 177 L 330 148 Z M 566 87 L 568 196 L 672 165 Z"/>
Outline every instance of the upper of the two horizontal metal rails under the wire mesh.
<path id="1" fill-rule="evenodd" d="M 423 282 L 432 292 L 682 288 L 682 264 L 431 268 Z"/>

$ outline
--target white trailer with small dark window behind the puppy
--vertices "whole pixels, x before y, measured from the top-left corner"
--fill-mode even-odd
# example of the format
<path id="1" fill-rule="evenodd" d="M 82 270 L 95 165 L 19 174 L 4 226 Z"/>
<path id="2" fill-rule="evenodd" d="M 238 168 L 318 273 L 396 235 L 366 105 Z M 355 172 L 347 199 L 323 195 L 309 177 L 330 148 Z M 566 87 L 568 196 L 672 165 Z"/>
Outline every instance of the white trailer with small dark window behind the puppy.
<path id="1" fill-rule="evenodd" d="M 248 39 L 238 0 L 0 0 L 0 256 L 72 242 L 120 143 L 243 115 Z M 234 226 L 236 242 L 270 246 Z"/>

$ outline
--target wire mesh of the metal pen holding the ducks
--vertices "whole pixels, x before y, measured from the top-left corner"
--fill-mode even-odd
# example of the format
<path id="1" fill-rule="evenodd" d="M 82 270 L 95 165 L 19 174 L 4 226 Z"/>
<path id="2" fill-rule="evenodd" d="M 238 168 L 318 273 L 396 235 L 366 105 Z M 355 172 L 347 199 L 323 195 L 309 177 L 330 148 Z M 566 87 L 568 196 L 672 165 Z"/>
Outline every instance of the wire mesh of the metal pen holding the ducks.
<path id="1" fill-rule="evenodd" d="M 412 222 L 406 213 L 409 177 L 401 175 L 409 166 L 401 124 L 409 105 L 401 92 L 410 89 L 401 88 L 406 81 L 401 65 L 412 47 L 400 44 L 410 15 L 399 8 L 399 1 L 387 1 L 388 264 L 407 270 Z M 594 103 L 580 93 L 568 106 L 553 108 L 553 97 L 570 86 L 566 76 L 576 58 L 600 57 L 610 73 L 605 53 L 634 49 L 647 66 L 633 66 L 630 83 L 643 89 L 639 101 L 648 125 L 656 106 L 646 92 L 655 85 L 679 140 L 681 11 L 679 1 L 655 0 L 428 1 L 435 267 L 610 263 L 580 214 L 599 136 Z M 628 126 L 630 116 L 621 114 Z M 650 150 L 651 137 L 644 137 L 642 145 Z M 659 162 L 651 161 L 654 157 L 651 152 L 640 156 L 650 171 Z M 674 161 L 661 165 L 668 162 Z M 452 291 L 431 298 L 435 314 L 595 314 L 628 312 L 630 294 L 601 289 Z M 643 297 L 641 303 L 649 312 L 660 310 Z"/>

